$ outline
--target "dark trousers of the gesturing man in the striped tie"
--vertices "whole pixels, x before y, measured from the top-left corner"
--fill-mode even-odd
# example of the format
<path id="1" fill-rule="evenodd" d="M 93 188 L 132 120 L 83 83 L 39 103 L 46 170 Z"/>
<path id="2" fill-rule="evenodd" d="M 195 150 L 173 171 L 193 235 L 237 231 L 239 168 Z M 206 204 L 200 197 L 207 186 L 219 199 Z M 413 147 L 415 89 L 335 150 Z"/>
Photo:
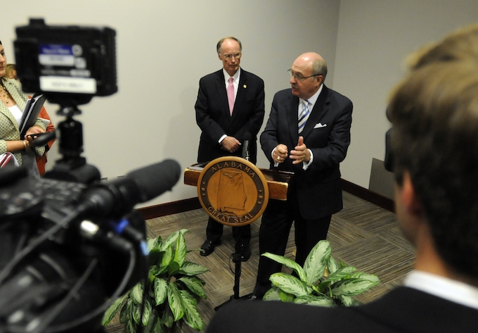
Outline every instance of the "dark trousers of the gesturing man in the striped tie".
<path id="1" fill-rule="evenodd" d="M 297 200 L 290 198 L 288 201 L 269 200 L 266 211 L 262 215 L 259 229 L 259 254 L 270 252 L 283 256 L 287 246 L 292 221 L 295 222 L 295 246 L 297 254 L 295 261 L 303 266 L 318 241 L 326 239 L 330 219 L 325 216 L 316 220 L 305 220 L 299 212 Z M 271 288 L 269 277 L 280 272 L 282 265 L 276 261 L 261 256 L 254 295 L 264 296 Z"/>

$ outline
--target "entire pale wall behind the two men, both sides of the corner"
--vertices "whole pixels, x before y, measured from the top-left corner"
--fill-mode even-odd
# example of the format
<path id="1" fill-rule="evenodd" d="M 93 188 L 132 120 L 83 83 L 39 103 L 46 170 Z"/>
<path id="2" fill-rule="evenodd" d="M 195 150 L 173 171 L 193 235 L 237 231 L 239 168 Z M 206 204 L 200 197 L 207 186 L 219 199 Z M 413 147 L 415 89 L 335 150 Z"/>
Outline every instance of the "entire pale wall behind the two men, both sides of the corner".
<path id="1" fill-rule="evenodd" d="M 14 28 L 30 17 L 117 30 L 119 92 L 94 98 L 77 118 L 84 125 L 84 156 L 103 177 L 164 158 L 183 168 L 195 162 L 198 81 L 221 68 L 217 40 L 234 35 L 243 42 L 242 67 L 265 81 L 266 119 L 273 94 L 289 87 L 286 70 L 295 58 L 304 51 L 325 58 L 325 83 L 354 102 L 342 177 L 362 187 L 368 187 L 372 158 L 385 153 L 387 96 L 403 76 L 405 56 L 478 18 L 476 0 L 20 0 L 4 1 L 2 9 L 9 15 L 1 20 L 0 39 L 12 61 Z M 48 107 L 58 123 L 56 109 Z M 53 146 L 47 167 L 55 155 Z M 260 168 L 268 167 L 261 151 L 258 159 Z M 142 206 L 196 195 L 180 180 Z"/>

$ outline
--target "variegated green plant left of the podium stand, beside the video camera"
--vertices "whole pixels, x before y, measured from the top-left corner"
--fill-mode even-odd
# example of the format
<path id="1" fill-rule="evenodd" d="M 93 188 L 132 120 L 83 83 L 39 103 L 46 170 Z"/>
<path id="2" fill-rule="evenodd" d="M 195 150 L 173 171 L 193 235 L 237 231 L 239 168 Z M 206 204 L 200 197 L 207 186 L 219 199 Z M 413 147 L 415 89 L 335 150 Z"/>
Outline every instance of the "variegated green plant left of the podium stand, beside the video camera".
<path id="1" fill-rule="evenodd" d="M 136 332 L 136 325 L 142 325 L 145 333 L 174 331 L 181 328 L 183 322 L 202 330 L 205 326 L 198 312 L 198 301 L 205 299 L 205 282 L 196 275 L 209 271 L 202 265 L 186 261 L 186 240 L 183 229 L 162 240 L 161 237 L 148 239 L 149 284 L 144 299 L 143 320 L 143 282 L 136 284 L 113 303 L 103 317 L 103 325 L 108 323 L 120 311 L 120 322 L 124 332 Z"/>

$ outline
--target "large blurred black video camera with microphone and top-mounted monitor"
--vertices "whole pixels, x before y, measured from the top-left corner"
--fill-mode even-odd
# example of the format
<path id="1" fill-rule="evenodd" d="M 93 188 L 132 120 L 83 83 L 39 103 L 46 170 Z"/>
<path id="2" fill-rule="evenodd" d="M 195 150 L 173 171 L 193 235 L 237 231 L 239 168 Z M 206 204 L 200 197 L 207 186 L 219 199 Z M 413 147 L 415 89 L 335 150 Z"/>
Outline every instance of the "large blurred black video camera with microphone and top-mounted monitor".
<path id="1" fill-rule="evenodd" d="M 117 91 L 115 31 L 17 28 L 24 91 L 60 103 L 60 153 L 41 179 L 25 165 L 0 169 L 0 332 L 103 332 L 106 308 L 148 276 L 145 220 L 134 211 L 172 189 L 166 160 L 101 182 L 82 153 L 77 105 Z"/>

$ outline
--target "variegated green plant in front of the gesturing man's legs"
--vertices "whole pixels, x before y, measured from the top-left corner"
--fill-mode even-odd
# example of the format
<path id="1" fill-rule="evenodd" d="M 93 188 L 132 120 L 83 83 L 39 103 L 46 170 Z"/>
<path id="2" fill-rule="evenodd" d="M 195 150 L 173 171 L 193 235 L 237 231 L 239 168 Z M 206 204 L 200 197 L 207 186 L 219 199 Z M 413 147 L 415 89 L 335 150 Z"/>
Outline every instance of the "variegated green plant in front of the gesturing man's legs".
<path id="1" fill-rule="evenodd" d="M 297 277 L 278 272 L 271 275 L 273 287 L 264 295 L 266 301 L 285 301 L 316 306 L 353 306 L 359 304 L 352 296 L 380 283 L 376 275 L 357 272 L 356 268 L 340 265 L 330 255 L 330 242 L 319 241 L 307 256 L 304 267 L 295 261 L 264 253 L 272 260 L 294 270 Z"/>

